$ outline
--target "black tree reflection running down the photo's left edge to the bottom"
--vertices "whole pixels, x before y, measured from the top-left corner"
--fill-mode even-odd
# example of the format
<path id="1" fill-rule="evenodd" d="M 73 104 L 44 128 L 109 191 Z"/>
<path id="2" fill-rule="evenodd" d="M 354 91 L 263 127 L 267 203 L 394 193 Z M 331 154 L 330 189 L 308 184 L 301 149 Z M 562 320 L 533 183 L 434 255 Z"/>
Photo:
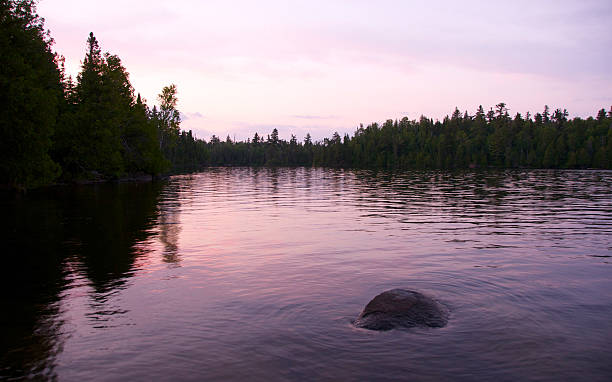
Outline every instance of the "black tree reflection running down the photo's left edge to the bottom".
<path id="1" fill-rule="evenodd" d="M 61 350 L 63 231 L 58 203 L 36 195 L 0 199 L 4 239 L 0 267 L 0 380 L 55 379 Z"/>

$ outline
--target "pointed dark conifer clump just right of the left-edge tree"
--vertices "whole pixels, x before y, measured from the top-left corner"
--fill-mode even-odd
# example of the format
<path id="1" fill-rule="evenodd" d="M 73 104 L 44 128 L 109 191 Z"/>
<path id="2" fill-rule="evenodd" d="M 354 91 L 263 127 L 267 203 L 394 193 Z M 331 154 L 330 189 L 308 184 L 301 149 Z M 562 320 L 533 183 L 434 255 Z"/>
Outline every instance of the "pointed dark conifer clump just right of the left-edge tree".
<path id="1" fill-rule="evenodd" d="M 54 151 L 66 178 L 117 178 L 164 169 L 148 107 L 140 95 L 134 96 L 121 59 L 103 55 L 93 33 L 77 83 L 71 86 L 65 81 L 66 107 Z"/>

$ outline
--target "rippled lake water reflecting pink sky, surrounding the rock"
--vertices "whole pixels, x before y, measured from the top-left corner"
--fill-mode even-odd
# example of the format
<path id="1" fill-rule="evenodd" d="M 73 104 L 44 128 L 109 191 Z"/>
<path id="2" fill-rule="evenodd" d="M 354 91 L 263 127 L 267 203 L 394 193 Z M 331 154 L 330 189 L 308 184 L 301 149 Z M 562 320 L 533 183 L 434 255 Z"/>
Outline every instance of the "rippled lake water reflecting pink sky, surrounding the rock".
<path id="1" fill-rule="evenodd" d="M 612 172 L 221 168 L 0 205 L 0 379 L 612 380 Z M 449 325 L 351 326 L 397 287 Z"/>

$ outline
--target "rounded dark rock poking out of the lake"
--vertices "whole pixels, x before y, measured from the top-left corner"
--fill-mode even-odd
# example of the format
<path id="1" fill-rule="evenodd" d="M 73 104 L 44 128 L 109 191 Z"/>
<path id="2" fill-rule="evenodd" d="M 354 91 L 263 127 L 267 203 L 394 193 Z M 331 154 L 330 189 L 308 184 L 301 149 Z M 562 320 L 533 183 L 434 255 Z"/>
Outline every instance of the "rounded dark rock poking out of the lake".
<path id="1" fill-rule="evenodd" d="M 441 328 L 448 322 L 448 310 L 419 292 L 392 289 L 374 297 L 353 323 L 358 328 L 391 330 L 414 326 Z"/>

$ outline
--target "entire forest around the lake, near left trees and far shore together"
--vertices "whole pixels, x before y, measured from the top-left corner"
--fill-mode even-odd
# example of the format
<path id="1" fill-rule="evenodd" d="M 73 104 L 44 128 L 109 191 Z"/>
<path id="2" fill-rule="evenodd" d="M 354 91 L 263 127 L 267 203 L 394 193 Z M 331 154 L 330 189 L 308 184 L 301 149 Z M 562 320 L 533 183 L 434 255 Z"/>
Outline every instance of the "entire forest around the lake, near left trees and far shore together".
<path id="1" fill-rule="evenodd" d="M 246 141 L 181 130 L 175 85 L 150 108 L 121 59 L 87 38 L 81 71 L 64 59 L 34 0 L 0 0 L 0 186 L 152 177 L 205 166 L 326 166 L 381 169 L 612 168 L 612 108 L 569 119 L 567 110 L 513 117 L 505 103 L 442 121 L 387 120 L 352 136 L 313 141 L 274 129 Z"/>

